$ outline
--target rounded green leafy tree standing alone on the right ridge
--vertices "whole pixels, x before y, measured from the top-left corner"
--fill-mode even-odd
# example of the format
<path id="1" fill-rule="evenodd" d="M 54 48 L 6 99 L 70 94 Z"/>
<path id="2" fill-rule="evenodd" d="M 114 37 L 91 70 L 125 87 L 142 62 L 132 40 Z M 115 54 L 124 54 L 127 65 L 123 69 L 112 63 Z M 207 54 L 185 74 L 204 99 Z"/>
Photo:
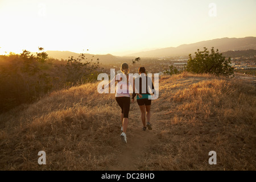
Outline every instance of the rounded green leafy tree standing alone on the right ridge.
<path id="1" fill-rule="evenodd" d="M 188 72 L 210 73 L 217 76 L 229 76 L 234 74 L 234 68 L 230 66 L 230 57 L 226 59 L 222 56 L 222 53 L 218 52 L 218 49 L 215 52 L 214 47 L 212 47 L 209 52 L 208 49 L 204 47 L 204 51 L 197 49 L 195 54 L 195 58 L 192 58 L 191 54 L 189 54 L 187 64 Z"/>

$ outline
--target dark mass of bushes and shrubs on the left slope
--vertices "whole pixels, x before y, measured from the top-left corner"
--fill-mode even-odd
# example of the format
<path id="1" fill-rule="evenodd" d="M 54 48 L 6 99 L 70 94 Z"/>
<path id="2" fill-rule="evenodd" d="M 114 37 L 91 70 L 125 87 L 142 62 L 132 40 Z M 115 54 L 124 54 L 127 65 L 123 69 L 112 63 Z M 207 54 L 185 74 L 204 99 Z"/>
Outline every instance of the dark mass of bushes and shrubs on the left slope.
<path id="1" fill-rule="evenodd" d="M 27 50 L 0 55 L 0 113 L 39 100 L 52 90 L 97 81 L 98 59 L 85 60 L 83 54 L 68 61 L 48 59 L 43 48 L 36 56 Z"/>

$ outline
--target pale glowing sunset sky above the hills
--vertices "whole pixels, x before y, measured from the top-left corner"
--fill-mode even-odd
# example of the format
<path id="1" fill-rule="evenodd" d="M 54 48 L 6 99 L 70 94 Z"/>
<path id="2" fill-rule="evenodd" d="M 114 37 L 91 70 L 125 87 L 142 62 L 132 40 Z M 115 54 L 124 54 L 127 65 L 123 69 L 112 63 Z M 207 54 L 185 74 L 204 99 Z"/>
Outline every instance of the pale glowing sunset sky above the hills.
<path id="1" fill-rule="evenodd" d="M 255 7 L 256 0 L 0 0 L 0 54 L 43 47 L 122 56 L 256 36 Z"/>

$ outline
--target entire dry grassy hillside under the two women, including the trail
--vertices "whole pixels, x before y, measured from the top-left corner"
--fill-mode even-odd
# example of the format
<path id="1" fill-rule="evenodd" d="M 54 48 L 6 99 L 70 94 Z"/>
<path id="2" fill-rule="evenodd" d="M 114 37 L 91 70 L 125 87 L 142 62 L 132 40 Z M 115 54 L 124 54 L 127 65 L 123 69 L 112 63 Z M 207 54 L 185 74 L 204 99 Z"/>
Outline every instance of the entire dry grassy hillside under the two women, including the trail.
<path id="1" fill-rule="evenodd" d="M 153 130 L 131 104 L 127 144 L 114 94 L 97 84 L 58 92 L 0 115 L 1 170 L 255 170 L 256 90 L 239 80 L 162 76 Z M 46 152 L 46 165 L 38 152 Z M 209 165 L 209 151 L 217 165 Z"/>

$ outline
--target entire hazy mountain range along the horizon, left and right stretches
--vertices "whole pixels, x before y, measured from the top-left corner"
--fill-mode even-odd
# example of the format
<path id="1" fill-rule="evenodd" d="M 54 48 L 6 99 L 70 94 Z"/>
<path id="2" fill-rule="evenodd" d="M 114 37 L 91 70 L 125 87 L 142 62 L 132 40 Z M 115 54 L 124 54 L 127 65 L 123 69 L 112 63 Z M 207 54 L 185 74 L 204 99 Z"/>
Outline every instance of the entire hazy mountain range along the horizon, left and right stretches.
<path id="1" fill-rule="evenodd" d="M 227 51 L 243 51 L 248 49 L 256 49 L 256 38 L 255 37 L 246 37 L 246 38 L 222 38 L 222 39 L 213 39 L 202 42 L 197 42 L 193 44 L 184 44 L 179 47 L 168 47 L 155 49 L 151 51 L 143 51 L 137 53 L 131 53 L 127 56 L 113 56 L 111 54 L 107 55 L 92 55 L 85 54 L 85 57 L 88 60 L 100 60 L 100 63 L 110 63 L 110 62 L 122 62 L 126 60 L 132 60 L 134 57 L 174 57 L 174 56 L 188 56 L 189 53 L 193 54 L 200 49 L 203 51 L 204 47 L 208 49 L 214 47 L 220 52 Z M 49 57 L 55 59 L 68 59 L 68 57 L 78 57 L 80 54 L 70 51 L 46 51 Z M 35 53 L 34 53 L 35 54 Z"/>

